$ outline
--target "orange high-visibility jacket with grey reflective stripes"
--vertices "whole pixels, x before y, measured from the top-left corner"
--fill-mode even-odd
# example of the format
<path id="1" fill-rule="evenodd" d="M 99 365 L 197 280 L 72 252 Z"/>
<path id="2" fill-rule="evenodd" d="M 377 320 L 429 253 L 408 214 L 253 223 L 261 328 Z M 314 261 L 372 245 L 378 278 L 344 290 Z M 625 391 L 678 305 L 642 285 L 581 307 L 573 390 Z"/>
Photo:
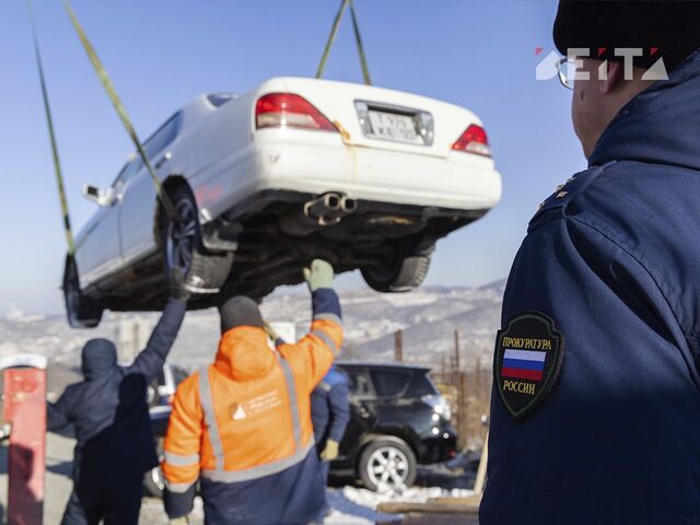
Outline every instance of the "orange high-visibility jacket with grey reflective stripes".
<path id="1" fill-rule="evenodd" d="M 332 293 L 331 303 L 338 304 L 331 290 L 318 292 Z M 316 299 L 315 306 L 328 303 Z M 165 435 L 167 492 L 194 494 L 200 478 L 244 483 L 306 458 L 314 448 L 310 395 L 342 342 L 339 306 L 337 311 L 315 311 L 310 334 L 277 350 L 261 328 L 240 326 L 223 334 L 214 364 L 177 388 Z M 185 512 L 180 505 L 168 510 L 171 517 L 189 512 L 191 500 L 187 503 Z"/>

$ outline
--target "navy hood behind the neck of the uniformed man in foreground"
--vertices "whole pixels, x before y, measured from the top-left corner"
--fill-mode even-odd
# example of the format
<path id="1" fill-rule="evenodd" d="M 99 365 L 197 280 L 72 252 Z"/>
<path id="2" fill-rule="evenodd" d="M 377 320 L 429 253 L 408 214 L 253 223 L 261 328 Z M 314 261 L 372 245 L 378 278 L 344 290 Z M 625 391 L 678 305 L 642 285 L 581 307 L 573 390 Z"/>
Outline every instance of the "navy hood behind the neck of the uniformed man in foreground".
<path id="1" fill-rule="evenodd" d="M 629 160 L 700 170 L 699 133 L 700 50 L 620 109 L 588 165 Z"/>

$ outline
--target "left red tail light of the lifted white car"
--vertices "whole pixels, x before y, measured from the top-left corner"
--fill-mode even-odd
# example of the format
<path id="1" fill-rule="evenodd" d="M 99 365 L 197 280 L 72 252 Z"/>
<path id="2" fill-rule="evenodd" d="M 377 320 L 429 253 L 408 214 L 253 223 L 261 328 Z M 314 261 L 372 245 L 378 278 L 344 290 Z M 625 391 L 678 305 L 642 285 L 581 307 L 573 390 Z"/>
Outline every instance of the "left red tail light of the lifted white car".
<path id="1" fill-rule="evenodd" d="M 269 93 L 255 106 L 255 125 L 259 128 L 304 128 L 338 131 L 323 113 L 293 93 Z"/>

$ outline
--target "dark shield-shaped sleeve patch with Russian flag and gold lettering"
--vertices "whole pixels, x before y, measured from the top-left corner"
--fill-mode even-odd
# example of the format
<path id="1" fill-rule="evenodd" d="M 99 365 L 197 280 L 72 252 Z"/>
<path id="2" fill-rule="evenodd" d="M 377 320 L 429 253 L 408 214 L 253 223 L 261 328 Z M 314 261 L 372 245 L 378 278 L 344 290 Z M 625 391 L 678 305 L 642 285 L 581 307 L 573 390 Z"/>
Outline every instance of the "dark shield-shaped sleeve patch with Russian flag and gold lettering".
<path id="1" fill-rule="evenodd" d="M 545 314 L 523 312 L 499 330 L 493 377 L 511 416 L 520 419 L 542 401 L 557 382 L 563 357 L 563 337 Z"/>

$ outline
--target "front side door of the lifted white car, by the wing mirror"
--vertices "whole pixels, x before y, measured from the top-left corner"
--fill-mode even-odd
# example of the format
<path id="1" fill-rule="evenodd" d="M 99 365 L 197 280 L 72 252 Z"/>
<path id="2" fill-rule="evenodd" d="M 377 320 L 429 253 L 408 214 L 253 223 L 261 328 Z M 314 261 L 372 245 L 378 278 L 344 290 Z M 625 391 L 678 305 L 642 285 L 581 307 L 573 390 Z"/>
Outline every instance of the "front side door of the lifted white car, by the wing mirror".
<path id="1" fill-rule="evenodd" d="M 136 159 L 127 162 L 107 191 L 109 202 L 101 206 L 83 228 L 78 238 L 75 260 L 80 285 L 85 288 L 117 271 L 122 264 L 119 240 L 119 192 L 128 177 L 138 168 Z"/>

